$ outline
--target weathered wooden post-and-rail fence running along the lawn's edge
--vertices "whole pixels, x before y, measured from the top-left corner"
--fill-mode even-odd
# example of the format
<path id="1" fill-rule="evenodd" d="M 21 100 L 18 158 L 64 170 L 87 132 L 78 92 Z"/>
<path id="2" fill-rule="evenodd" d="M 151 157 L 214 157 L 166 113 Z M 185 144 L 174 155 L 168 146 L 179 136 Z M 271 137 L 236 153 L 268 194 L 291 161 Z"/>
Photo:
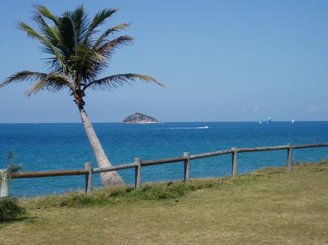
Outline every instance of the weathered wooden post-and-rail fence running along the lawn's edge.
<path id="1" fill-rule="evenodd" d="M 232 148 L 230 150 L 219 150 L 211 153 L 201 153 L 196 155 L 190 155 L 189 153 L 183 153 L 182 157 L 174 157 L 167 159 L 156 159 L 150 161 L 141 161 L 140 158 L 136 157 L 133 163 L 121 164 L 117 166 L 109 166 L 104 168 L 92 168 L 91 163 L 86 163 L 84 169 L 80 170 L 53 170 L 53 171 L 43 171 L 43 172 L 26 172 L 26 173 L 10 173 L 9 177 L 11 179 L 21 179 L 21 178 L 36 178 L 36 177 L 56 177 L 56 176 L 68 176 L 68 175 L 85 175 L 85 192 L 87 194 L 92 192 L 92 175 L 95 173 L 104 173 L 116 170 L 124 170 L 128 168 L 135 169 L 135 188 L 141 188 L 141 169 L 145 166 L 152 166 L 158 164 L 170 164 L 174 162 L 183 162 L 183 181 L 185 183 L 190 182 L 190 161 L 194 159 L 201 159 L 206 157 L 217 157 L 219 155 L 231 154 L 232 156 L 232 176 L 237 176 L 237 154 L 238 153 L 250 153 L 268 150 L 287 150 L 287 171 L 291 173 L 292 171 L 292 150 L 302 149 L 302 148 L 315 148 L 315 147 L 325 147 L 328 143 L 323 144 L 304 144 L 298 146 L 292 146 L 287 144 L 286 146 L 265 146 L 265 147 L 255 147 L 255 148 Z M 0 197 L 6 197 L 8 195 L 8 182 L 0 183 Z"/>

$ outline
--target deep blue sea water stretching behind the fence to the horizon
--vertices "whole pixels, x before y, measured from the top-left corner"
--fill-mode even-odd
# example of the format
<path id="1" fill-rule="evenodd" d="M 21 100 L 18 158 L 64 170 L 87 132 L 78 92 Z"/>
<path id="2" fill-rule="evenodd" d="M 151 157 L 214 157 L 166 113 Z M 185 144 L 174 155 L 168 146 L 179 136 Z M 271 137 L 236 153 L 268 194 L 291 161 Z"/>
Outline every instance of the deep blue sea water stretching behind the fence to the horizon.
<path id="1" fill-rule="evenodd" d="M 316 144 L 328 141 L 328 121 L 273 122 L 190 122 L 165 124 L 93 124 L 113 165 L 142 160 L 179 157 L 226 150 L 232 147 Z M 208 126 L 209 128 L 201 128 Z M 86 161 L 96 167 L 95 157 L 82 124 L 0 124 L 0 169 L 13 150 L 15 162 L 24 171 L 82 169 Z M 293 150 L 293 161 L 321 161 L 328 148 Z M 286 150 L 239 153 L 238 173 L 265 166 L 286 164 Z M 134 170 L 120 170 L 127 184 L 134 183 Z M 221 177 L 231 174 L 231 155 L 191 161 L 190 175 Z M 143 168 L 143 183 L 183 179 L 183 163 Z M 98 175 L 93 186 L 100 187 Z M 35 197 L 69 190 L 83 190 L 84 175 L 12 179 L 10 195 Z"/>

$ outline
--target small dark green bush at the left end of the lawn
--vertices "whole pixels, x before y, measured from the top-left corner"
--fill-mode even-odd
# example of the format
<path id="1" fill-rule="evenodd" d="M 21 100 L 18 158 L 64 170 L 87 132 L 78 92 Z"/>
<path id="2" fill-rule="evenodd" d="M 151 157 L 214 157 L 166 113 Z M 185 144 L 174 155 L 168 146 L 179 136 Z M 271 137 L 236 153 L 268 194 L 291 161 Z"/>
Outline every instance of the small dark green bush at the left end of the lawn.
<path id="1" fill-rule="evenodd" d="M 26 210 L 19 206 L 16 198 L 0 198 L 0 223 L 19 219 L 24 215 L 26 215 Z"/>

